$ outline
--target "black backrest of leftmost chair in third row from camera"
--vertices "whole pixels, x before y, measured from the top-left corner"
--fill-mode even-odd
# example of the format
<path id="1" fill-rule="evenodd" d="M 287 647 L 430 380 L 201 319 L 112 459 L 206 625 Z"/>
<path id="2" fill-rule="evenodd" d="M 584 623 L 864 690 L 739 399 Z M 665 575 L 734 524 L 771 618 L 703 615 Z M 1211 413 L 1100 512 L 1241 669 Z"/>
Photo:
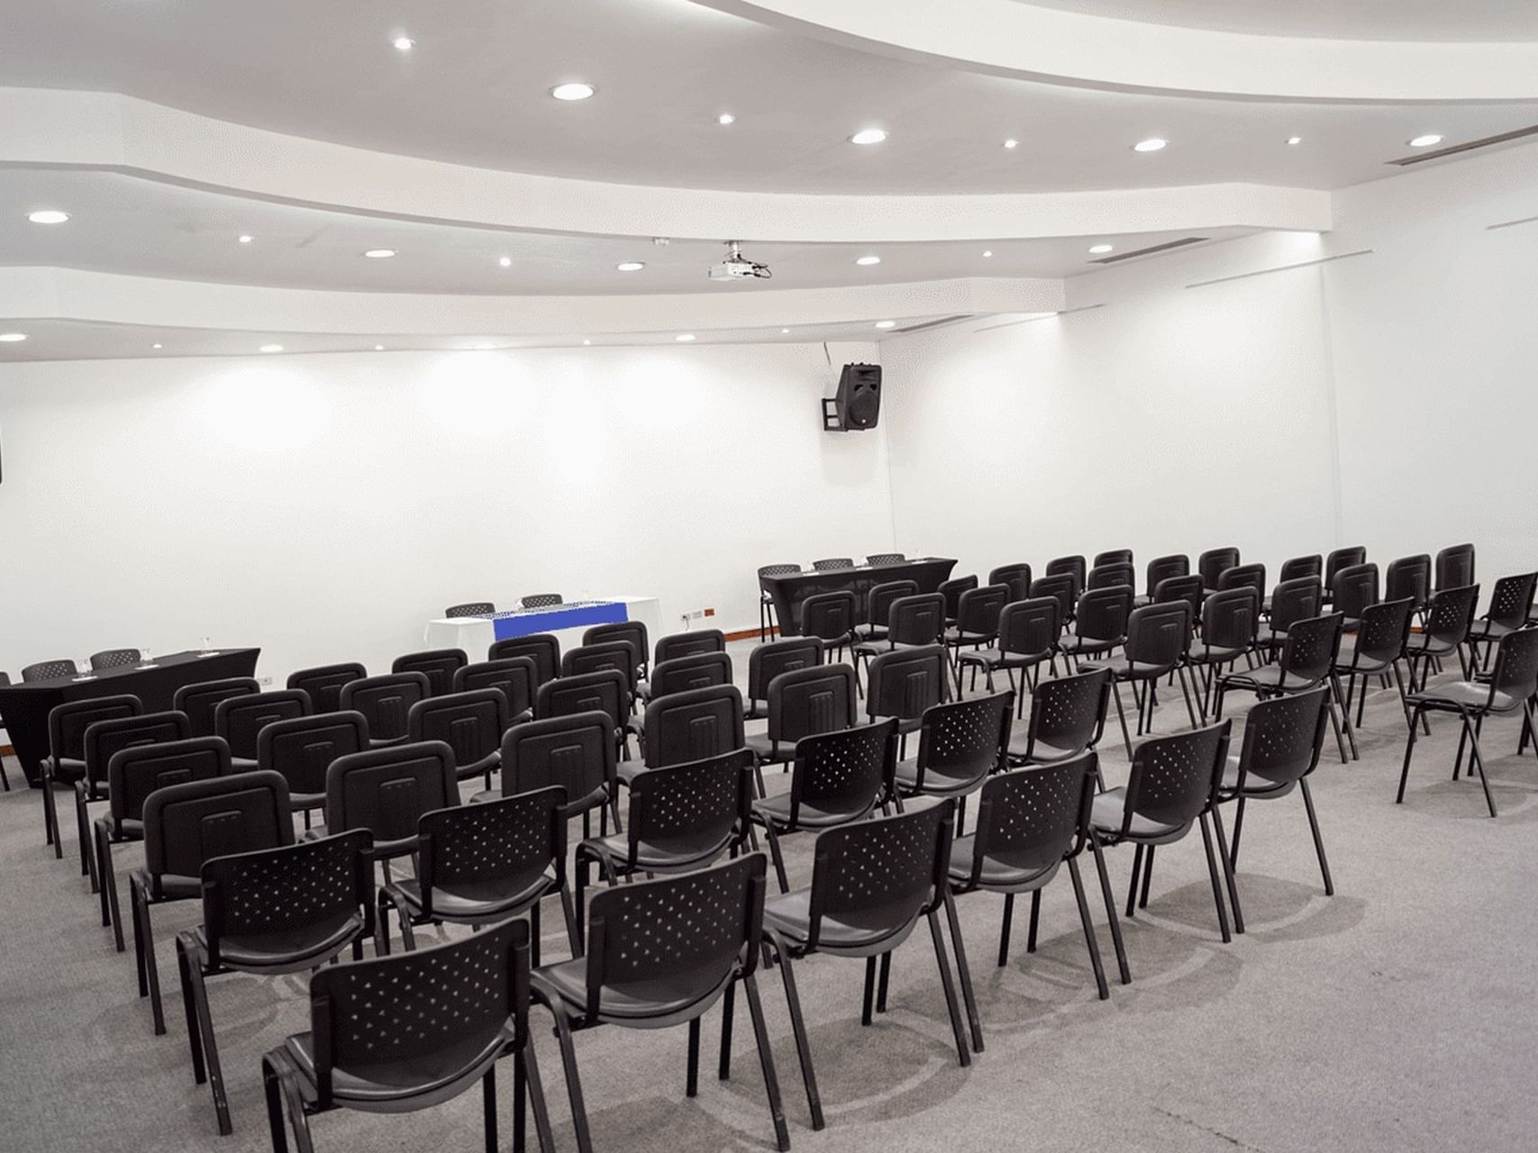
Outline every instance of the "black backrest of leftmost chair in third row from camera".
<path id="1" fill-rule="evenodd" d="M 163 876 L 197 878 L 211 858 L 283 844 L 294 844 L 294 816 L 277 773 L 169 784 L 145 798 L 145 869 L 154 896 Z"/>

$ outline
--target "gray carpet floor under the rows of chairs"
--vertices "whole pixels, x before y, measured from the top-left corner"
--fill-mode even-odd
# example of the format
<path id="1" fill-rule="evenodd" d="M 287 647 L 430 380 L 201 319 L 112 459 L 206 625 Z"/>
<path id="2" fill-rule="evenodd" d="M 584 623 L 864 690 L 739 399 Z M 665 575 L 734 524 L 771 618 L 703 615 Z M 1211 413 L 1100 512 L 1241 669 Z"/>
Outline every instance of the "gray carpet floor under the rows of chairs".
<path id="1" fill-rule="evenodd" d="M 732 649 L 746 669 L 747 646 Z M 1178 698 L 1166 698 L 1158 729 L 1183 718 Z M 1126 775 L 1115 738 L 1112 719 L 1103 743 L 1112 784 Z M 967 1070 L 926 933 L 898 952 L 891 1012 L 869 1028 L 863 965 L 807 961 L 797 972 L 827 1111 L 821 1133 L 809 1127 L 783 992 L 764 979 L 792 1147 L 1538 1148 L 1538 759 L 1516 756 L 1516 723 L 1486 726 L 1501 806 L 1492 821 L 1478 784 L 1450 779 L 1452 721 L 1433 721 L 1416 747 L 1400 807 L 1404 721 L 1392 693 L 1372 696 L 1360 741 L 1360 761 L 1329 755 L 1313 778 L 1337 895 L 1324 896 L 1301 799 L 1255 804 L 1240 861 L 1249 932 L 1220 942 L 1200 836 L 1161 849 L 1149 907 L 1124 922 L 1134 981 L 1112 984 L 1109 1001 L 1095 996 L 1066 873 L 1046 892 L 1038 952 L 1026 952 L 1021 907 L 1003 969 L 994 964 L 1003 898 L 963 898 L 987 1042 Z M 772 772 L 771 789 L 787 779 Z M 69 856 L 68 807 L 62 862 L 43 847 L 40 812 L 34 790 L 0 798 L 0 1148 L 268 1148 L 258 1062 L 306 1027 L 305 979 L 211 982 L 235 1121 L 235 1135 L 218 1138 L 211 1099 L 192 1082 L 171 947 L 194 924 L 195 902 L 155 910 L 171 1027 L 155 1038 L 132 958 L 112 950 Z M 809 838 L 787 841 L 792 884 L 809 879 Z M 120 852 L 120 876 L 138 859 Z M 1109 852 L 1120 899 L 1130 862 L 1129 849 Z M 1114 973 L 1104 909 L 1094 904 Z M 558 925 L 558 915 L 546 918 L 552 958 L 564 955 Z M 712 1010 L 706 1053 L 717 1021 Z M 540 1010 L 535 1028 L 557 1145 L 571 1150 L 560 1058 Z M 774 1148 L 746 1013 L 734 1079 L 715 1081 L 706 1059 L 695 1099 L 684 1096 L 684 1045 L 681 1028 L 577 1038 L 595 1148 Z M 501 1084 L 506 1147 L 511 1070 Z M 314 1131 L 320 1148 L 477 1150 L 478 1093 L 408 1116 L 337 1111 Z"/>

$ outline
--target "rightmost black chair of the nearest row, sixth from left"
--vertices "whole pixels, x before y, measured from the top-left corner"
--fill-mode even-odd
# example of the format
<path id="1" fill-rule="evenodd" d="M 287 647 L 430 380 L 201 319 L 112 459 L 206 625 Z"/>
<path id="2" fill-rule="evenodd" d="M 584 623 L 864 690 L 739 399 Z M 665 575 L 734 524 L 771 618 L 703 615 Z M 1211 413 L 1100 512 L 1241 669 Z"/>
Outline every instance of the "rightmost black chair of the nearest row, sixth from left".
<path id="1" fill-rule="evenodd" d="M 1309 792 L 1309 775 L 1320 767 L 1320 753 L 1324 750 L 1327 699 L 1329 693 L 1321 686 L 1306 693 L 1260 701 L 1250 709 L 1244 718 L 1244 741 L 1240 752 L 1237 756 L 1229 756 L 1223 769 L 1218 804 L 1235 802 L 1229 866 L 1237 870 L 1240 835 L 1244 832 L 1244 806 L 1249 801 L 1277 801 L 1297 789 L 1309 815 L 1313 855 L 1320 859 L 1320 873 L 1324 876 L 1324 895 L 1333 896 L 1335 882 L 1330 881 L 1324 838 L 1320 836 L 1320 818 L 1313 812 L 1313 793 Z"/>

